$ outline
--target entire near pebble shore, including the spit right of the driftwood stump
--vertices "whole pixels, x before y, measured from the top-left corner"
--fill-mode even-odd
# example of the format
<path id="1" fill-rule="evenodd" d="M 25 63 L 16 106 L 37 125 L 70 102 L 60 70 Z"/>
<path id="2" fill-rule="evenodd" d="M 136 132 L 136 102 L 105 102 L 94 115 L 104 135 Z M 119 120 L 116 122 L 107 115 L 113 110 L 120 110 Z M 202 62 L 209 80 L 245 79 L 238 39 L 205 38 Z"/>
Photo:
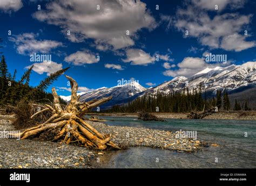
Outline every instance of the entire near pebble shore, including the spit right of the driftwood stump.
<path id="1" fill-rule="evenodd" d="M 14 119 L 13 115 L 1 115 L 0 130 L 14 130 L 11 124 Z M 111 133 L 112 141 L 124 149 L 145 146 L 176 152 L 195 152 L 206 145 L 204 141 L 176 138 L 176 134 L 170 131 L 87 122 L 101 133 Z M 84 147 L 34 139 L 0 138 L 0 153 L 0 168 L 93 168 L 91 161 L 107 151 L 93 151 Z"/>

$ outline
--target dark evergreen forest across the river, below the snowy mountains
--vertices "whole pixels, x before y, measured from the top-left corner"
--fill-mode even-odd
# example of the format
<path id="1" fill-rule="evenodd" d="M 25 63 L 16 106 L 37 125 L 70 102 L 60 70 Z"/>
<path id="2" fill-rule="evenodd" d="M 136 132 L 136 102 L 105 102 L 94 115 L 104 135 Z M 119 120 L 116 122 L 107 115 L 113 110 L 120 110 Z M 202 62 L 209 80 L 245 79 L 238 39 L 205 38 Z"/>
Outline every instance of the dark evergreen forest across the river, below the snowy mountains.
<path id="1" fill-rule="evenodd" d="M 125 105 L 113 105 L 111 109 L 106 112 L 191 112 L 191 111 L 203 111 L 217 106 L 218 110 L 230 111 L 230 110 L 250 110 L 248 103 L 240 104 L 235 100 L 234 106 L 231 106 L 228 93 L 225 91 L 221 94 L 220 90 L 217 90 L 215 97 L 207 98 L 207 93 L 201 91 L 201 85 L 199 89 L 184 88 L 183 91 L 172 91 L 169 94 L 157 91 L 156 95 L 143 95 L 136 98 L 132 102 L 128 102 Z"/>

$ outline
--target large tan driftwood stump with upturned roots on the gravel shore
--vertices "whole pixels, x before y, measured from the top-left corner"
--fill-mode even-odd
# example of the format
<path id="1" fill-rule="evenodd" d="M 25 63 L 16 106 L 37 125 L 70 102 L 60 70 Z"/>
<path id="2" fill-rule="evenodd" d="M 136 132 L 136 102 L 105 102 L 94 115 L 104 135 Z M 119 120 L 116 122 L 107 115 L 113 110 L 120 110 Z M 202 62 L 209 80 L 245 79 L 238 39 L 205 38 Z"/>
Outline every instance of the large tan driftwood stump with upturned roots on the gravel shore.
<path id="1" fill-rule="evenodd" d="M 61 140 L 66 144 L 70 142 L 78 142 L 85 147 L 91 147 L 96 149 L 106 149 L 107 146 L 120 149 L 117 145 L 110 141 L 111 134 L 105 135 L 99 133 L 89 123 L 83 120 L 83 116 L 91 108 L 103 104 L 109 101 L 112 97 L 105 97 L 102 99 L 93 99 L 89 102 L 79 102 L 79 96 L 77 96 L 78 84 L 72 77 L 66 76 L 71 84 L 71 101 L 65 109 L 60 106 L 59 97 L 55 88 L 52 88 L 53 105 L 45 104 L 45 109 L 36 112 L 31 118 L 37 116 L 45 111 L 51 112 L 51 117 L 43 124 L 35 127 L 28 128 L 17 135 L 17 138 L 26 139 L 34 137 L 35 135 L 44 131 L 58 130 L 53 140 Z"/>

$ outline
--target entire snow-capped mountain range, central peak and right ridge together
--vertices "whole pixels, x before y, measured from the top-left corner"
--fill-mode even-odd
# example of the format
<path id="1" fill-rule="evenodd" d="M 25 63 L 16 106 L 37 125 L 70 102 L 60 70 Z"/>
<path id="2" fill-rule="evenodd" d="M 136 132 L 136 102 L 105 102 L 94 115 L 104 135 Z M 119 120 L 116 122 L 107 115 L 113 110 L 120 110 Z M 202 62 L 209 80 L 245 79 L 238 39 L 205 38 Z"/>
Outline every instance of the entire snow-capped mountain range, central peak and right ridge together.
<path id="1" fill-rule="evenodd" d="M 207 92 L 207 96 L 215 96 L 217 90 L 226 90 L 229 94 L 236 95 L 236 98 L 238 95 L 245 98 L 246 96 L 242 94 L 243 91 L 248 92 L 248 89 L 254 90 L 256 88 L 256 62 L 227 67 L 205 68 L 191 77 L 178 76 L 157 87 L 148 89 L 142 87 L 136 81 L 112 88 L 102 87 L 84 94 L 80 92 L 80 101 L 85 102 L 95 98 L 112 96 L 113 98 L 109 102 L 100 106 L 101 108 L 109 108 L 112 105 L 128 103 L 145 94 L 149 96 L 156 95 L 158 91 L 165 94 L 171 91 L 181 91 L 184 88 L 192 91 L 193 89 L 198 89 L 200 84 L 202 91 Z M 61 97 L 64 98 L 64 96 Z M 70 99 L 70 96 L 65 98 Z"/>

